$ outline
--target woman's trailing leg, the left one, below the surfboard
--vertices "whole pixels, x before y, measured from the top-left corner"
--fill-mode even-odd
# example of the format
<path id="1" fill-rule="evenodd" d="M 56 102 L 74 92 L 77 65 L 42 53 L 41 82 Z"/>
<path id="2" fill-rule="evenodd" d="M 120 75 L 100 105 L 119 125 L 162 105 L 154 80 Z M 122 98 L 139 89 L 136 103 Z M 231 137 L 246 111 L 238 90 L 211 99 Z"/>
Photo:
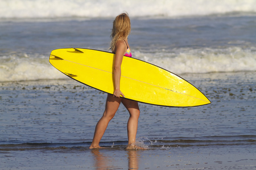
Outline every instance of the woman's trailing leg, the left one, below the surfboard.
<path id="1" fill-rule="evenodd" d="M 108 127 L 109 121 L 112 120 L 112 118 L 115 116 L 115 112 L 117 112 L 121 100 L 122 98 L 114 97 L 113 95 L 108 94 L 105 111 L 96 125 L 93 142 L 89 148 L 101 148 L 99 145 L 101 138 L 104 135 L 106 128 Z"/>

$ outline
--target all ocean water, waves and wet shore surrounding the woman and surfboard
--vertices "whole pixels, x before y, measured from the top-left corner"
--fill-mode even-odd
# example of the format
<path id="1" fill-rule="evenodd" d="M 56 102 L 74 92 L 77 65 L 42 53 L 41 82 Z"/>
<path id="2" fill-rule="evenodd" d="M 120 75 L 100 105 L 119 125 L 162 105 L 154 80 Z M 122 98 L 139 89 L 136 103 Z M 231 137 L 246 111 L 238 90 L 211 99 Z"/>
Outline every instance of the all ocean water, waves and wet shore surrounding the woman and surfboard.
<path id="1" fill-rule="evenodd" d="M 256 169 L 255 9 L 253 0 L 0 1 L 0 169 Z M 108 51 L 123 11 L 133 57 L 180 75 L 212 104 L 139 104 L 145 151 L 125 150 L 121 105 L 101 141 L 108 148 L 92 151 L 106 94 L 48 58 L 57 48 Z"/>

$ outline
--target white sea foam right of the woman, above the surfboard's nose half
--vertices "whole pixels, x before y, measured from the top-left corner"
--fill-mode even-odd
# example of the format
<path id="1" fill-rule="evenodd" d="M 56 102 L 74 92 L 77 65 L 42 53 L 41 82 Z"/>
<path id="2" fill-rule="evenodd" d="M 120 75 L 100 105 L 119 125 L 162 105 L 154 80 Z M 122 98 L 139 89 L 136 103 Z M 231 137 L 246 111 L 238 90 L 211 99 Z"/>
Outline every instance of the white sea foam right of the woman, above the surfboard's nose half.
<path id="1" fill-rule="evenodd" d="M 175 74 L 256 71 L 256 48 L 181 48 L 165 53 L 138 52 L 137 57 Z"/>

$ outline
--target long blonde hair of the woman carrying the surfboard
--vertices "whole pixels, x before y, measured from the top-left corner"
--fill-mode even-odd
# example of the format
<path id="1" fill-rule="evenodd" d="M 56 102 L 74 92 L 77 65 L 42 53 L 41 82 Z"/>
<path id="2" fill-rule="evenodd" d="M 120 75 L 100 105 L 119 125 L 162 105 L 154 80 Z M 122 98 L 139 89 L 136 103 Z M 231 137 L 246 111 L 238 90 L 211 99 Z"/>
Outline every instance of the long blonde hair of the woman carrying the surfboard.
<path id="1" fill-rule="evenodd" d="M 113 22 L 112 33 L 110 35 L 112 41 L 110 42 L 110 48 L 112 51 L 115 49 L 115 44 L 118 40 L 126 39 L 131 32 L 131 22 L 127 13 L 122 13 L 115 17 Z"/>

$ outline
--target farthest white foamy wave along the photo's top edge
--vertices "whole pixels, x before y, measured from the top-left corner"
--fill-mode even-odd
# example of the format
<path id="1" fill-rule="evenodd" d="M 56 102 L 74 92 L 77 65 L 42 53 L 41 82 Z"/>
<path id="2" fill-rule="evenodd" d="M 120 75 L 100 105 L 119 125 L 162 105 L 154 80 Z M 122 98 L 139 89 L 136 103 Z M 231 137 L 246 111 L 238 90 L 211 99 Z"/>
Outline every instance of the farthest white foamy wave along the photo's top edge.
<path id="1" fill-rule="evenodd" d="M 255 0 L 115 1 L 115 0 L 2 0 L 0 18 L 106 18 L 127 11 L 130 16 L 191 16 L 256 12 Z"/>

